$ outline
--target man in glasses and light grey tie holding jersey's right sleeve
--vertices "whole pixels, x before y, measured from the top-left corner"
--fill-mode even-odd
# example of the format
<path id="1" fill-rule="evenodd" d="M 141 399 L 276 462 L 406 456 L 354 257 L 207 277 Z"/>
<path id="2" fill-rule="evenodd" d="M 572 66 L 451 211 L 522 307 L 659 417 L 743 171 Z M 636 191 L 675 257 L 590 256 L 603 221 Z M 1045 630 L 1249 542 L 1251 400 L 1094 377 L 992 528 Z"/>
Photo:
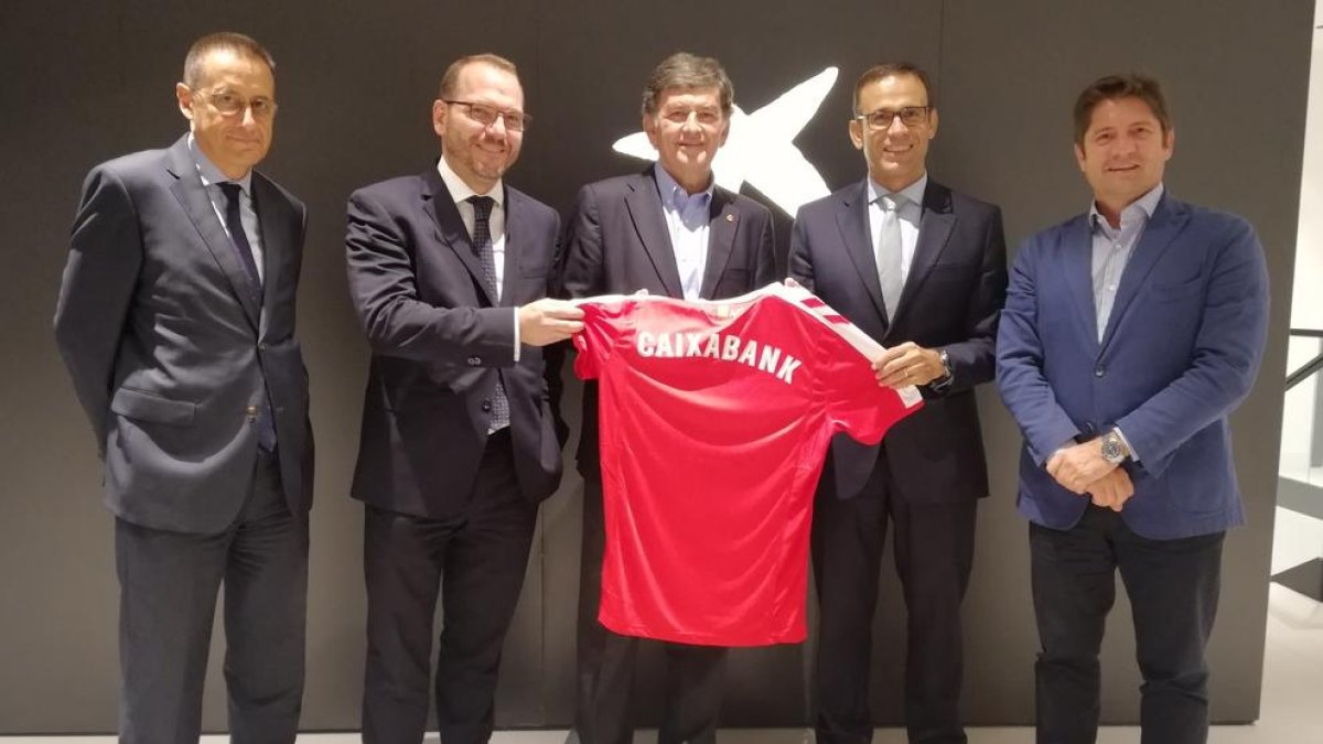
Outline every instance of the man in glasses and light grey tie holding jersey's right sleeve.
<path id="1" fill-rule="evenodd" d="M 1005 297 L 1000 210 L 927 176 L 937 107 L 923 70 L 877 65 L 855 83 L 849 136 L 868 177 L 804 205 L 790 275 L 886 346 L 878 383 L 925 405 L 877 446 L 832 442 L 814 514 L 822 606 L 815 670 L 820 743 L 872 740 L 872 620 L 886 523 L 909 613 L 912 743 L 963 743 L 960 602 L 978 499 L 988 494 L 974 388 L 992 379 Z"/>

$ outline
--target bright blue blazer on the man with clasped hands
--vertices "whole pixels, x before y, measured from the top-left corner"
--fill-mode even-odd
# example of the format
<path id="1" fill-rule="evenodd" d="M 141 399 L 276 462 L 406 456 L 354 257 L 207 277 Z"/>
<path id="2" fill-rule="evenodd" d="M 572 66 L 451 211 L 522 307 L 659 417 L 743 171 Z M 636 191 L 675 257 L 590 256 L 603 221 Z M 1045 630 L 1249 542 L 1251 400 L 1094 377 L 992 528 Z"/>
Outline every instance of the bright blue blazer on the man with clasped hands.
<path id="1" fill-rule="evenodd" d="M 1073 527 L 1089 500 L 1044 469 L 1072 440 L 1119 426 L 1138 462 L 1121 512 L 1176 539 L 1244 522 L 1226 417 L 1254 383 L 1267 335 L 1267 270 L 1242 218 L 1167 195 L 1121 278 L 1102 342 L 1088 214 L 1020 248 L 998 334 L 998 387 L 1024 432 L 1017 504 Z"/>

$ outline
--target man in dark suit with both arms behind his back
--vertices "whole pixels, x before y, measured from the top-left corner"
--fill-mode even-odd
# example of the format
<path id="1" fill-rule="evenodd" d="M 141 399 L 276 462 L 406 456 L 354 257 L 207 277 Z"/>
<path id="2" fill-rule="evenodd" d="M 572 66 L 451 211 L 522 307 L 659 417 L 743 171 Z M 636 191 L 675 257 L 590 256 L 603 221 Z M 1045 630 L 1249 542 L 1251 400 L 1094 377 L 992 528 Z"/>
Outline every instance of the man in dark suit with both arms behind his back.
<path id="1" fill-rule="evenodd" d="M 120 740 L 196 741 L 216 596 L 234 741 L 294 741 L 312 438 L 294 338 L 304 208 L 253 169 L 275 64 L 200 38 L 189 134 L 93 168 L 56 339 L 105 461 L 120 584 Z"/>

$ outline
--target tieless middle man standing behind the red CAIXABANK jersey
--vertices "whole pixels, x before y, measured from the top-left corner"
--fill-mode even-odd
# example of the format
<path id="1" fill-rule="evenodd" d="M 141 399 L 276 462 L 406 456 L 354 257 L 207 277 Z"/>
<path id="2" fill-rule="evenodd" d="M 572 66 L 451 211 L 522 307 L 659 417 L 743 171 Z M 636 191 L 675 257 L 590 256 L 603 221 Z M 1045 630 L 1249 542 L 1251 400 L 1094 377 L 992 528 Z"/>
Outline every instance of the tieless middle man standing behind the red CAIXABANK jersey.
<path id="1" fill-rule="evenodd" d="M 716 185 L 712 160 L 730 131 L 733 89 L 712 58 L 677 53 L 643 91 L 643 130 L 658 164 L 579 191 L 566 229 L 562 290 L 570 297 L 650 294 L 685 299 L 741 295 L 775 281 L 771 213 Z M 597 385 L 583 392 L 578 467 L 583 475 L 578 700 L 583 744 L 628 744 L 638 638 L 597 620 L 602 590 L 602 474 Z M 725 649 L 667 643 L 660 744 L 710 744 L 721 707 Z"/>

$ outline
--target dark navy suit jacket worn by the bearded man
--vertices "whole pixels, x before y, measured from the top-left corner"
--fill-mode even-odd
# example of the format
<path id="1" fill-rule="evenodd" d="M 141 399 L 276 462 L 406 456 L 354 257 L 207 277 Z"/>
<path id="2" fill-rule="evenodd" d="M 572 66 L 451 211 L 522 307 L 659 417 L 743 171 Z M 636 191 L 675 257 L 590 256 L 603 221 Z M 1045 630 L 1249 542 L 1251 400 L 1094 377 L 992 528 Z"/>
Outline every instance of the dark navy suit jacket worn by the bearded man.
<path id="1" fill-rule="evenodd" d="M 497 375 L 509 400 L 519 486 L 556 491 L 561 446 L 542 349 L 515 361 L 515 308 L 546 295 L 560 217 L 505 187 L 505 271 L 488 295 L 478 250 L 435 167 L 349 197 L 349 294 L 372 363 L 352 495 L 384 510 L 447 518 L 468 503 Z"/>

